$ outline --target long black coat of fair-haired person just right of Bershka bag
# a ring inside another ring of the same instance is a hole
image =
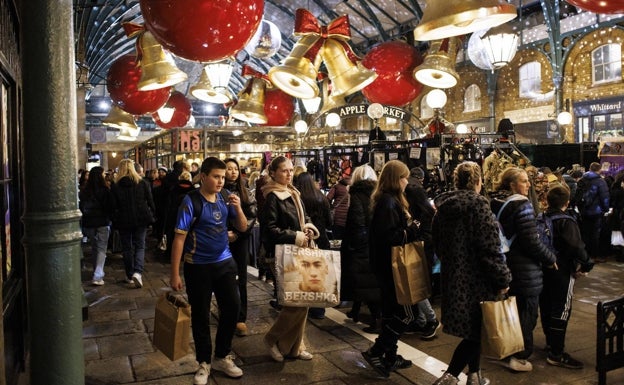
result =
[[[340,267],[344,300],[380,302],[377,278],[370,267],[368,229],[370,226],[370,196],[375,189],[372,180],[361,180],[349,188],[350,204],[345,232],[340,246]]]

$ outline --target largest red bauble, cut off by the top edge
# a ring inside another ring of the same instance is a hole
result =
[[[262,21],[261,0],[140,0],[145,27],[163,48],[188,60],[234,56]]]

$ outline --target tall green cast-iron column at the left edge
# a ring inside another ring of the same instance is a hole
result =
[[[84,384],[72,2],[22,1],[30,383]]]

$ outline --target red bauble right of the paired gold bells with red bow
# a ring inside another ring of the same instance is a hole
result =
[[[423,89],[412,75],[421,63],[420,52],[405,42],[390,41],[374,46],[362,64],[375,71],[377,78],[362,93],[371,103],[397,107],[410,103]]]

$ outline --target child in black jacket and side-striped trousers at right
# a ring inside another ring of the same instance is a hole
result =
[[[546,215],[565,212],[570,202],[570,191],[555,186],[548,191]],[[559,269],[544,269],[544,289],[540,294],[540,318],[546,336],[550,365],[582,369],[583,363],[564,351],[568,320],[572,312],[574,282],[594,266],[585,251],[579,226],[572,217],[558,218],[553,223],[553,246],[557,250]]]

